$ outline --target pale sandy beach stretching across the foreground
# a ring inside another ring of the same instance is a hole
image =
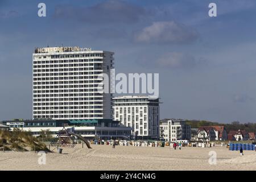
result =
[[[35,152],[0,152],[0,170],[256,170],[256,152],[229,151],[226,147],[135,147],[94,145],[92,149],[63,147],[63,154],[46,154],[39,164]],[[53,147],[52,147],[53,149]],[[217,164],[209,164],[209,152],[217,155]]]

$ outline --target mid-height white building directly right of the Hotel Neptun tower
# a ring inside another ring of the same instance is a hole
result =
[[[114,120],[133,127],[137,139],[159,138],[159,98],[122,96],[113,100]]]

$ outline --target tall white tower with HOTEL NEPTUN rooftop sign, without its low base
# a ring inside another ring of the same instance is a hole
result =
[[[35,48],[33,118],[112,119],[112,94],[98,88],[102,73],[110,76],[113,55],[79,47]]]

